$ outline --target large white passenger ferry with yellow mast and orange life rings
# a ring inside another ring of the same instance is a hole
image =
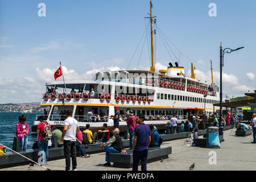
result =
[[[102,129],[103,123],[113,129],[114,106],[119,107],[123,121],[119,122],[119,130],[127,129],[125,111],[130,109],[135,115],[143,113],[147,125],[154,125],[158,130],[166,129],[167,121],[177,114],[178,121],[187,121],[188,114],[213,112],[220,100],[219,86],[207,84],[195,78],[193,65],[191,77],[185,74],[184,67],[175,62],[169,63],[167,69],[155,72],[154,44],[152,23],[152,3],[150,2],[151,24],[151,67],[150,71],[123,70],[98,72],[92,80],[54,81],[46,83],[47,87],[58,90],[72,89],[71,93],[45,93],[40,105],[49,106],[47,122],[63,129],[65,110],[72,110],[73,117],[79,122],[81,130],[86,124],[94,132]],[[93,92],[91,90],[93,89]],[[223,99],[225,102],[225,98]],[[94,115],[88,116],[92,110]],[[105,113],[105,114],[100,114]],[[98,116],[99,114],[100,116]],[[39,124],[36,116],[32,131]]]

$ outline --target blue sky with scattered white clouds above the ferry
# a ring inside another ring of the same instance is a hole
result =
[[[46,4],[46,17],[38,16],[41,2]],[[86,76],[95,69],[126,69],[145,30],[144,16],[150,11],[149,3],[144,0],[0,0],[0,89],[2,92],[13,90],[13,97],[0,96],[0,103],[39,101],[36,95],[44,92],[44,82],[47,76],[51,77],[50,71],[57,69],[60,60],[71,79],[74,74]],[[204,76],[200,74],[209,72],[212,59],[218,82],[222,41],[224,48],[245,47],[225,55],[224,92],[229,97],[243,96],[244,90],[256,88],[255,76],[246,75],[255,75],[255,1],[162,0],[152,3],[157,26],[187,56],[180,57],[180,64],[188,73],[193,62],[197,76]],[[208,15],[209,3],[216,3],[217,17]],[[179,52],[169,44],[179,57]],[[142,45],[130,69],[137,68]],[[158,28],[155,46],[155,61],[161,68],[170,60],[175,62],[175,56],[168,55]],[[146,40],[139,69],[149,67]],[[232,79],[234,81],[230,82]],[[237,84],[243,89],[237,88]],[[30,90],[34,96],[20,98],[31,93]]]

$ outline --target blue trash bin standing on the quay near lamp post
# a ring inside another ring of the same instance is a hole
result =
[[[218,127],[211,126],[207,128],[207,147],[220,148],[220,139],[218,138]]]

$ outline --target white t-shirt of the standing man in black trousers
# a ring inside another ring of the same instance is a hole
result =
[[[77,120],[72,117],[68,117],[64,121],[64,126],[65,125],[68,125],[68,130],[64,136],[64,140],[69,140],[69,141],[75,142],[76,141],[76,129],[79,126]]]

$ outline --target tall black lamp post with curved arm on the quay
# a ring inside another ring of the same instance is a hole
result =
[[[222,45],[220,46],[220,118],[218,120],[219,125],[221,124],[221,121],[222,121],[222,67],[224,66],[224,54],[238,51],[239,49],[242,49],[242,48],[244,47],[240,47],[237,49],[225,48],[222,51]]]

